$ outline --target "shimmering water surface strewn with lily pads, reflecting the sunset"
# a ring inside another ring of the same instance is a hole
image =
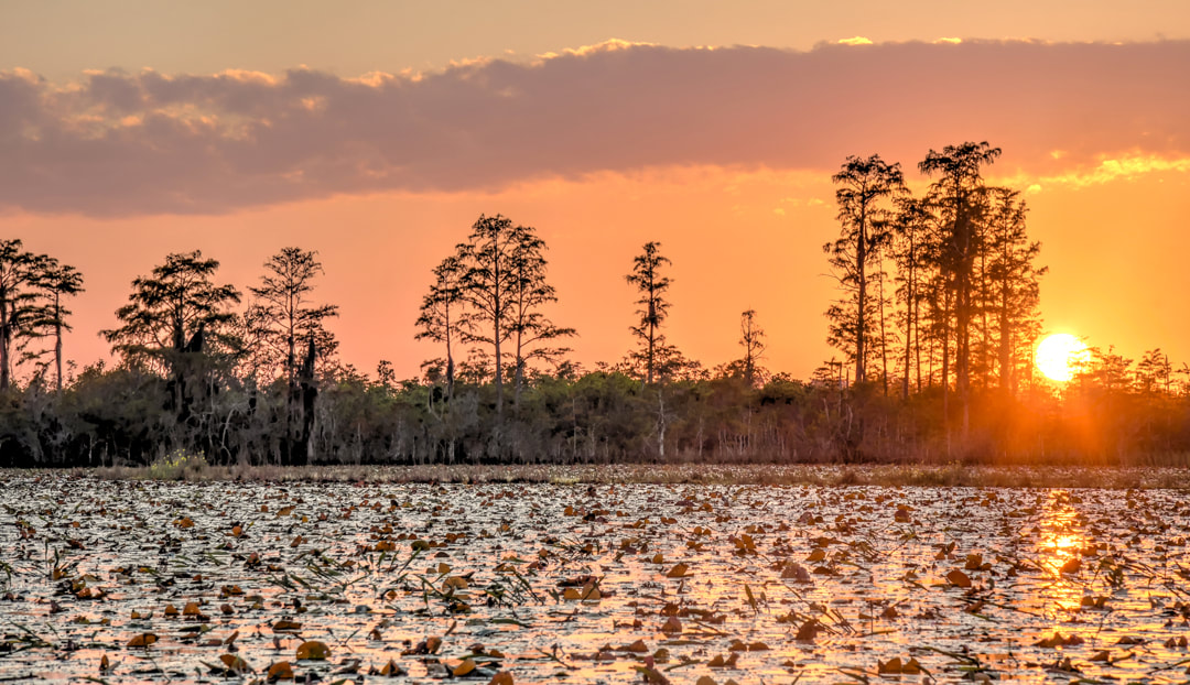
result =
[[[4,678],[1051,681],[1190,656],[1171,491],[7,483]]]

